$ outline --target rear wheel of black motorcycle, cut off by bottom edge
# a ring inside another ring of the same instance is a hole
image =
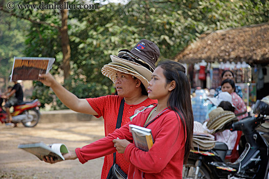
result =
[[[182,179],[195,179],[195,167],[196,160],[188,159],[187,164],[183,165]],[[197,179],[211,179],[208,170],[201,166]]]

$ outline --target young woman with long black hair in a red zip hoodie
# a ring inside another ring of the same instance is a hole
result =
[[[181,179],[193,134],[190,84],[185,68],[175,61],[161,63],[149,82],[148,96],[157,99],[158,104],[138,113],[109,136],[65,154],[65,159],[78,158],[85,163],[118,151],[131,163],[128,179]],[[155,142],[149,151],[135,147],[129,124],[147,125],[152,130]],[[48,157],[44,160],[57,162]]]

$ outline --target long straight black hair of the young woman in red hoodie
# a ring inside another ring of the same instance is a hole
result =
[[[166,82],[176,82],[176,87],[171,91],[167,106],[175,111],[186,130],[186,142],[184,153],[184,164],[186,164],[190,149],[192,149],[192,137],[193,137],[193,112],[191,106],[191,87],[188,78],[185,75],[185,67],[176,61],[164,61],[158,65],[163,69],[163,75],[166,78]],[[181,117],[183,116],[183,118]]]

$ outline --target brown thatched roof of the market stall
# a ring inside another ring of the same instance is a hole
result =
[[[269,63],[269,23],[202,34],[174,60],[196,63],[202,59],[207,62],[244,60],[250,64]]]

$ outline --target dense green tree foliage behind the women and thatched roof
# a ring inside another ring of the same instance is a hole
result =
[[[20,3],[40,4],[40,1],[20,0]],[[52,2],[44,0],[44,3]],[[69,3],[89,4],[89,1]],[[59,10],[14,12],[61,26]],[[68,13],[71,76],[64,86],[79,98],[92,98],[111,93],[112,81],[101,74],[101,68],[111,61],[110,55],[117,55],[120,49],[131,50],[140,39],[148,39],[160,48],[160,60],[173,59],[204,32],[268,22],[269,1],[130,0],[125,5],[98,4],[96,10],[72,9]],[[59,74],[63,64],[59,29],[32,23],[26,38],[24,55],[56,58],[51,73]],[[53,92],[34,82],[33,96],[41,99],[44,106],[52,102]],[[64,106],[56,99],[53,108]]]

